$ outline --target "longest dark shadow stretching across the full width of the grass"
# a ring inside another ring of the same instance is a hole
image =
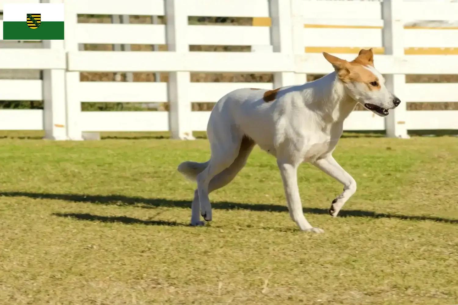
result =
[[[28,197],[36,199],[54,199],[65,200],[71,202],[96,203],[96,204],[111,204],[111,205],[136,205],[142,208],[154,209],[158,207],[166,208],[182,208],[191,209],[191,201],[187,200],[170,200],[166,198],[141,198],[127,197],[123,195],[81,195],[81,194],[48,194],[48,193],[25,193],[25,192],[4,192],[0,196],[5,197]],[[288,212],[286,205],[277,204],[248,204],[234,202],[215,202],[212,204],[213,209],[234,210],[244,209],[250,211],[266,211],[266,212]],[[304,213],[308,214],[328,214],[327,209],[304,208]],[[102,216],[100,216],[102,217]],[[395,215],[395,214],[378,214],[373,211],[364,210],[342,210],[338,217],[369,217],[369,218],[397,218],[407,220],[431,220],[439,222],[447,222],[458,224],[458,219],[447,219],[440,217],[429,216],[410,216],[410,215]],[[140,219],[136,219],[142,222]]]

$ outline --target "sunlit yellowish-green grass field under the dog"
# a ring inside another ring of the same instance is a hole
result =
[[[458,138],[345,137],[358,190],[300,167],[306,218],[287,212],[272,156],[255,149],[190,227],[181,161],[207,140],[2,139],[0,304],[458,304]]]

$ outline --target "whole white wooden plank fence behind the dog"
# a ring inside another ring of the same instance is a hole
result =
[[[458,74],[458,29],[404,28],[412,20],[456,20],[458,3],[42,0],[61,1],[65,41],[43,41],[43,48],[0,49],[0,69],[44,71],[43,80],[0,80],[0,100],[44,100],[44,111],[0,110],[2,130],[44,129],[47,138],[59,140],[80,140],[82,131],[170,130],[174,138],[192,139],[192,131],[206,130],[209,112],[192,112],[191,102],[216,102],[240,87],[303,83],[306,74],[332,71],[322,50],[342,53],[349,47],[384,52],[375,56],[376,68],[403,103],[387,118],[354,111],[345,130],[386,130],[391,137],[408,137],[407,130],[413,129],[458,129],[458,111],[406,110],[406,102],[458,102],[458,84],[405,83],[406,74]],[[0,0],[0,9],[6,2],[10,0]],[[78,23],[77,14],[166,16],[167,24]],[[188,25],[188,16],[270,17],[272,24]],[[167,44],[168,51],[81,51],[79,43]],[[189,52],[189,45],[251,45],[256,52]],[[428,49],[420,52],[422,48]],[[81,82],[82,71],[165,71],[169,82]],[[274,82],[196,83],[190,81],[190,72],[274,73]],[[81,111],[81,102],[167,101],[170,112]]]

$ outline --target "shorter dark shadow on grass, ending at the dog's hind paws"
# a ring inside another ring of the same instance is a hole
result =
[[[187,226],[186,224],[178,223],[178,222],[170,222],[170,221],[163,221],[163,220],[142,220],[127,216],[99,216],[93,214],[78,214],[78,213],[53,213],[54,216],[59,217],[69,217],[78,220],[89,220],[89,221],[101,221],[101,222],[120,222],[127,225],[133,224],[140,224],[140,225],[168,225],[168,226]]]

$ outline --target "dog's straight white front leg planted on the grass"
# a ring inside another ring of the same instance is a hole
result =
[[[301,231],[322,233],[323,230],[314,228],[305,219],[300,202],[299,187],[297,186],[297,165],[288,162],[277,161],[278,168],[283,180],[286,201],[288,203],[289,215],[299,226]]]

